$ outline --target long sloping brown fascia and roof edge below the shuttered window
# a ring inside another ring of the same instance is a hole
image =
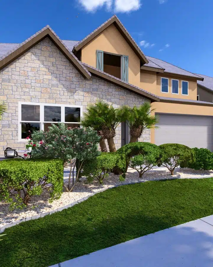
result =
[[[107,74],[104,71],[100,71],[98,69],[95,69],[92,66],[89,66],[89,65],[87,65],[85,63],[83,63],[83,64],[88,69],[88,71],[90,73],[92,73],[96,77],[99,77],[99,78],[101,78],[101,79],[103,79],[103,80],[105,80],[107,82],[111,82],[114,85],[117,85],[117,86],[119,86],[121,88],[124,88],[124,89],[126,89],[128,91],[131,91],[133,93],[136,93],[136,94],[138,94],[140,96],[146,97],[151,102],[160,101],[160,98],[158,96],[152,94],[152,93],[149,93],[149,92],[147,92],[147,91],[145,91],[145,90],[143,90],[143,89],[141,89],[139,87],[136,87],[134,85],[131,85],[129,83],[123,82],[122,80],[120,80],[120,79],[118,79],[118,78],[116,78],[116,77],[114,77],[114,76],[112,76],[110,74]]]

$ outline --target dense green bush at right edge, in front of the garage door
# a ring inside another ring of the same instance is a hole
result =
[[[195,170],[212,170],[213,169],[213,153],[207,148],[192,148],[195,160],[188,164],[188,168]]]

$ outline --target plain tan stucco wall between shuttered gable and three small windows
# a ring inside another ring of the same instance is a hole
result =
[[[150,93],[157,94],[157,76],[154,71],[141,70],[140,88]]]

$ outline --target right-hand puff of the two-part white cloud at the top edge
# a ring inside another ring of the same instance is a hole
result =
[[[115,0],[115,12],[130,12],[141,7],[140,0]]]

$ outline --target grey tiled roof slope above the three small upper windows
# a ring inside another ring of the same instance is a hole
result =
[[[158,58],[152,58],[149,56],[146,56],[146,58],[149,60],[148,64],[145,64],[144,66],[149,66],[150,62],[153,62],[154,64],[160,66],[161,68],[164,69],[164,73],[168,73],[168,74],[179,74],[185,77],[191,77],[191,78],[196,78],[196,80],[203,80],[202,77],[200,77],[197,74],[194,74],[190,71],[186,71],[185,69],[181,69],[175,65],[172,65],[166,61],[163,61],[161,59]]]

